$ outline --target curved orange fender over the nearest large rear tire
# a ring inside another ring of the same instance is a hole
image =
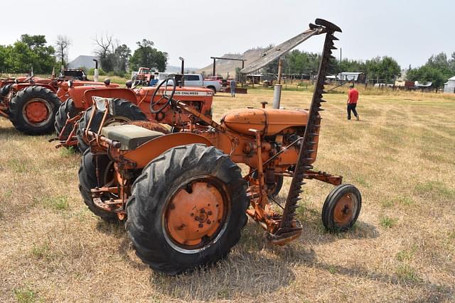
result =
[[[201,143],[207,146],[213,144],[207,138],[196,133],[171,133],[140,145],[138,148],[124,154],[124,158],[137,164],[135,168],[144,168],[151,160],[164,153],[166,150],[180,145]]]

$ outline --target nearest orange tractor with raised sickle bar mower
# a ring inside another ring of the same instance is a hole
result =
[[[321,127],[321,103],[338,26],[316,19],[305,35],[325,34],[318,79],[309,110],[265,108],[229,111],[220,123],[174,99],[162,82],[150,104],[189,114],[179,133],[124,124],[90,131],[97,113],[109,116],[112,100],[95,98],[84,136],[90,150],[79,170],[85,204],[106,221],[126,221],[137,255],[154,270],[177,274],[215,263],[240,239],[247,216],[267,232],[271,243],[299,238],[296,219],[304,180],[336,185],[322,209],[323,225],[346,231],[358,218],[357,188],[342,177],[313,170]],[[175,82],[175,81],[174,81]],[[164,103],[163,103],[164,101]],[[205,128],[196,127],[206,125]],[[203,122],[203,123],[200,123]],[[247,165],[244,173],[237,164]],[[279,203],[279,180],[291,177],[286,202]]]

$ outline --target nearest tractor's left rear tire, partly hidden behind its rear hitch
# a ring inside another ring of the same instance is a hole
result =
[[[98,165],[100,166],[101,176],[104,176],[106,170],[109,169],[109,167],[112,167],[109,165],[109,162],[110,160],[107,158],[107,155],[98,155]],[[95,155],[90,153],[90,150],[85,150],[85,153],[82,155],[82,161],[79,168],[79,182],[79,192],[82,196],[82,199],[84,199],[84,203],[88,206],[88,209],[90,209],[93,214],[99,216],[101,219],[109,223],[118,222],[119,219],[117,217],[117,214],[100,209],[93,202],[90,189],[95,187],[102,187],[105,184],[98,184]]]

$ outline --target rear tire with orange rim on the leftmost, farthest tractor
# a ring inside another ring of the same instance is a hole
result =
[[[50,89],[26,87],[11,99],[9,117],[18,131],[33,136],[44,135],[54,130],[58,106],[60,99]]]

